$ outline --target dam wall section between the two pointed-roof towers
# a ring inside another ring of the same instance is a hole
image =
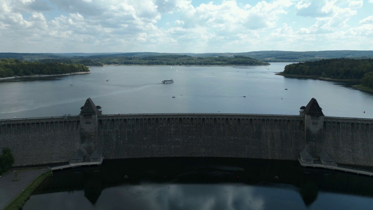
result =
[[[98,146],[111,158],[247,157],[292,160],[303,117],[275,115],[99,116]]]

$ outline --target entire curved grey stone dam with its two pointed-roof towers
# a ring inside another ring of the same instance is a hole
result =
[[[338,164],[373,167],[373,119],[325,117],[316,99],[299,115],[102,115],[88,98],[74,117],[0,121],[0,151],[13,166],[68,162],[77,149],[105,159],[240,157],[298,160],[325,149]]]

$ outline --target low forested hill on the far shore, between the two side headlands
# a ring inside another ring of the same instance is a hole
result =
[[[234,57],[192,57],[188,55],[163,55],[150,57],[90,57],[80,59],[42,59],[40,62],[64,62],[87,66],[102,65],[269,65],[247,56]]]

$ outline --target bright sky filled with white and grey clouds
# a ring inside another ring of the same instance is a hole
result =
[[[373,50],[373,0],[0,0],[0,52]]]

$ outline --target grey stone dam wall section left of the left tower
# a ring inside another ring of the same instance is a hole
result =
[[[0,149],[10,148],[13,166],[61,163],[81,148],[79,117],[0,121]]]

